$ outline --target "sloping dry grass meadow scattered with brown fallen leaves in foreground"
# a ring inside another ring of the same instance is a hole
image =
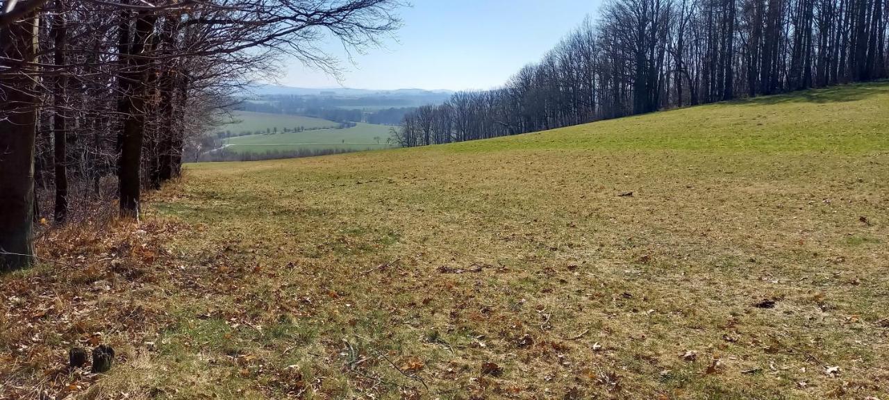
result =
[[[0,397],[889,398],[889,84],[191,164],[146,208],[0,277]]]

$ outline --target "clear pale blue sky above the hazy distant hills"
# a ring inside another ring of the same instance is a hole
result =
[[[342,86],[361,89],[489,89],[540,60],[599,0],[413,0],[383,48],[343,60]],[[342,56],[331,40],[324,49]],[[331,76],[288,63],[279,84],[337,87]]]

